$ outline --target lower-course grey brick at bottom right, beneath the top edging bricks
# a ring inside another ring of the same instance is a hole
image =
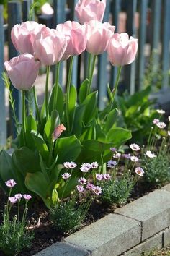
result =
[[[156,234],[145,242],[138,244],[133,249],[130,249],[128,252],[125,252],[121,256],[139,256],[142,255],[143,252],[151,252],[153,249],[161,249],[162,235],[162,232],[160,234]]]

